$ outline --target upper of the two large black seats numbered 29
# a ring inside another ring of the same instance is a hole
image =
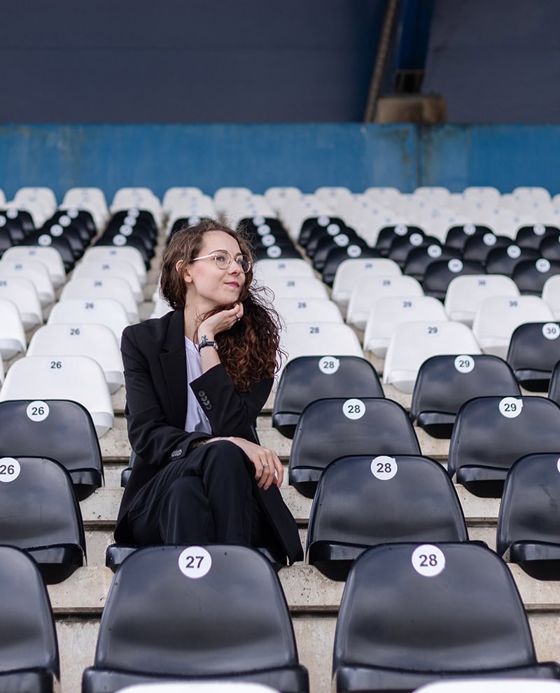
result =
[[[432,356],[416,377],[410,419],[433,437],[449,438],[461,405],[484,395],[521,395],[504,360],[491,354]]]

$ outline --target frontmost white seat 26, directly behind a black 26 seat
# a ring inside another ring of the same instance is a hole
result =
[[[0,389],[0,402],[6,400],[73,400],[90,412],[99,437],[113,428],[109,388],[101,366],[89,356],[20,358]]]

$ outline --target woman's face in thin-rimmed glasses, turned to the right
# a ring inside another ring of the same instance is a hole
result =
[[[220,269],[212,255],[232,258],[227,269]],[[207,231],[202,237],[202,246],[197,258],[187,265],[183,272],[186,283],[187,303],[196,304],[199,311],[209,311],[219,306],[235,303],[239,300],[245,283],[245,274],[235,261],[241,253],[239,244],[228,233]],[[204,257],[211,255],[211,257]]]

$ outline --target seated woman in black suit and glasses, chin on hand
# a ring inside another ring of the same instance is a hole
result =
[[[161,292],[173,311],[131,325],[121,342],[136,459],[118,542],[264,545],[302,559],[281,462],[255,442],[279,327],[252,281],[248,245],[227,226],[204,221],[172,236]]]

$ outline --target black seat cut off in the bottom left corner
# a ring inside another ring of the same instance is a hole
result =
[[[52,693],[59,689],[55,619],[35,561],[0,546],[0,690]]]

